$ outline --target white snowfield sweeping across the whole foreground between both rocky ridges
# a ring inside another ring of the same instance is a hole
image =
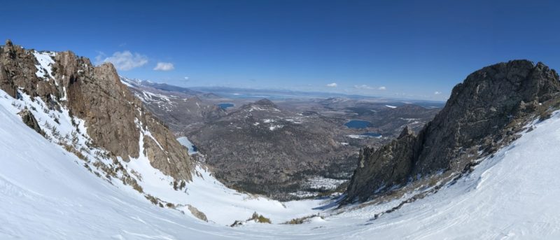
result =
[[[27,127],[16,114],[20,100],[8,98],[0,91],[0,239],[560,239],[558,112],[533,122],[533,131],[472,174],[375,220],[402,199],[348,211],[334,209],[334,199],[281,203],[225,188],[204,167],[186,190],[174,191],[144,157],[128,163],[146,192],[195,206],[207,223],[186,206],[160,208],[90,173],[83,160]],[[60,120],[69,121],[64,114]],[[226,226],[254,211],[273,224]],[[322,217],[279,224],[314,214]]]

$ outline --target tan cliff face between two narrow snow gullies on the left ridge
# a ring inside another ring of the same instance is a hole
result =
[[[139,157],[140,132],[134,120],[141,104],[127,94],[112,64],[94,67],[89,59],[78,58],[73,52],[60,52],[55,62],[55,76],[66,86],[67,105],[87,122],[87,133],[94,143],[124,160]]]

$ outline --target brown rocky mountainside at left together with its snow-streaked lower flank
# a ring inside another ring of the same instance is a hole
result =
[[[102,176],[122,170],[118,162],[147,155],[177,181],[191,178],[193,164],[181,144],[120,83],[112,64],[93,66],[73,52],[38,52],[10,41],[0,62],[0,89],[15,106],[28,108],[27,118],[41,125],[45,137],[97,164]]]

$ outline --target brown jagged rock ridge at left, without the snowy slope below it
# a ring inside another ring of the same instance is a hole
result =
[[[0,89],[15,98],[18,90],[40,97],[57,111],[67,108],[85,120],[94,146],[116,157],[137,158],[142,145],[153,167],[176,179],[191,179],[185,148],[120,82],[110,63],[93,66],[70,51],[37,52],[6,41],[0,48]],[[143,132],[151,137],[139,143]]]

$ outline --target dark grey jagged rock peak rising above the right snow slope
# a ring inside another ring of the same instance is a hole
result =
[[[365,201],[437,172],[461,172],[514,139],[529,120],[558,108],[556,71],[526,60],[486,66],[456,85],[419,132],[407,129],[377,150],[365,148],[346,202]]]

